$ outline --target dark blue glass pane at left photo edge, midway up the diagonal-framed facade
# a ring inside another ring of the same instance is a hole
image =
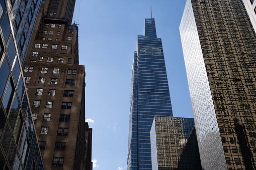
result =
[[[2,65],[0,67],[0,94],[2,95],[6,86],[6,82],[10,73],[9,64],[6,59],[6,56],[2,62]]]

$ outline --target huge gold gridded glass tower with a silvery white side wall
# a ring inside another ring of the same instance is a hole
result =
[[[204,169],[256,169],[256,35],[239,0],[188,0],[180,25]]]

